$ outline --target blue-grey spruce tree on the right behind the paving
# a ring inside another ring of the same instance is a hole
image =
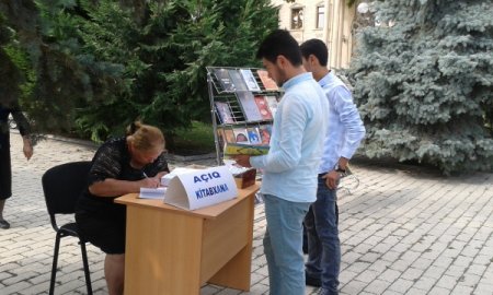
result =
[[[374,4],[382,25],[359,32],[351,66],[366,155],[431,163],[446,174],[491,168],[491,1]]]

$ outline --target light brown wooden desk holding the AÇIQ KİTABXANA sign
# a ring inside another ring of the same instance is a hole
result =
[[[125,294],[197,295],[207,282],[249,291],[257,190],[194,211],[137,193],[117,198],[127,205]]]

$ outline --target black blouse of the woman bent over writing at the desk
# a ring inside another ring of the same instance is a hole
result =
[[[130,166],[130,154],[126,139],[114,139],[101,145],[95,153],[89,173],[88,187],[106,178],[140,180],[145,178],[145,175],[152,177],[160,172],[169,172],[164,154],[161,154],[153,163],[146,165],[144,168],[136,169]],[[87,189],[79,199],[77,211],[102,213],[108,208],[121,206],[121,204],[113,202],[117,197],[121,196],[98,197]]]

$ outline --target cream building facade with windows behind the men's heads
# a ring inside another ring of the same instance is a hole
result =
[[[353,51],[353,20],[355,5],[345,0],[272,0],[279,7],[279,27],[288,30],[301,44],[311,38],[329,47],[329,66],[348,68]]]

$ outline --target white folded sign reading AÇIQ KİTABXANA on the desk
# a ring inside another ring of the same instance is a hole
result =
[[[237,185],[227,166],[176,175],[168,186],[164,203],[196,210],[234,199]]]

